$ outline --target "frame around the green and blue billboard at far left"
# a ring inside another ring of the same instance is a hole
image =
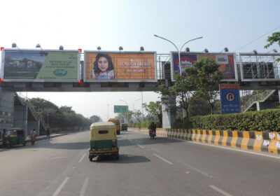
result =
[[[5,66],[5,53],[6,52],[20,52],[20,51],[25,51],[25,52],[76,52],[78,55],[77,59],[77,79],[6,79],[4,78],[4,66]],[[4,49],[1,51],[1,73],[0,76],[3,78],[5,82],[38,82],[38,83],[45,83],[45,82],[58,82],[58,83],[69,83],[69,82],[78,82],[80,79],[80,57],[81,57],[81,52],[79,50],[36,50],[36,49]]]

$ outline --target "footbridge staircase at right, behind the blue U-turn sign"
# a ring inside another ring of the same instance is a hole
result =
[[[244,113],[244,112],[250,110],[254,104],[257,105],[257,110],[259,110],[258,105],[260,104],[260,102],[265,102],[275,92],[276,92],[276,90],[265,90],[261,93],[258,93],[258,91],[257,91],[256,94],[255,93],[251,94],[251,96],[246,100],[246,102],[244,102],[244,104],[242,104],[241,112]]]

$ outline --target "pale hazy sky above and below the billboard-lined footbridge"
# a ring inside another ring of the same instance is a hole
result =
[[[174,46],[153,34],[173,41],[181,48],[186,41],[190,51],[268,52],[263,48],[272,31],[280,31],[279,0],[79,0],[79,1],[1,1],[0,46],[34,49],[125,51],[169,53]],[[253,43],[251,43],[253,41]],[[248,44],[250,43],[250,44]],[[244,45],[246,45],[244,47]],[[72,106],[85,117],[113,117],[113,105],[141,110],[141,92],[23,92],[57,104]],[[143,102],[155,102],[159,95],[144,92]],[[124,100],[120,101],[120,99]]]

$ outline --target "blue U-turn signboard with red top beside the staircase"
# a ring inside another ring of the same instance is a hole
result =
[[[240,99],[239,99],[239,85],[220,85],[221,95],[221,113],[239,113]]]

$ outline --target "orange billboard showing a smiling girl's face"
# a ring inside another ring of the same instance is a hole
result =
[[[85,51],[85,81],[156,81],[155,52]]]

